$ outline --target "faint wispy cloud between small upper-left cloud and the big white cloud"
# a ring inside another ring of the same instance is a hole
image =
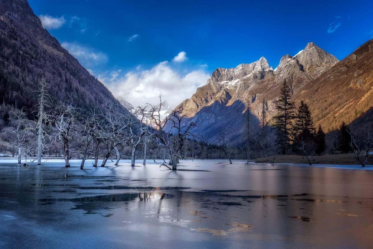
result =
[[[70,54],[75,56],[76,59],[84,67],[90,67],[108,61],[107,55],[101,51],[95,51],[94,48],[84,47],[82,45],[70,42],[63,42],[62,47],[66,48]]]

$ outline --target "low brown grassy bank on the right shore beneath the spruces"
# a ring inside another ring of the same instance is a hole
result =
[[[312,164],[360,165],[354,154],[321,155],[310,158]],[[266,158],[258,158],[258,163],[267,163]],[[278,155],[275,163],[308,164],[307,158],[301,155]],[[366,165],[373,165],[373,155],[368,157]]]

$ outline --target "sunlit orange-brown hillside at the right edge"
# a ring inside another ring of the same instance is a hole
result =
[[[294,97],[309,105],[316,126],[321,124],[326,132],[335,130],[343,121],[351,123],[373,106],[372,65],[370,40],[303,86]],[[372,120],[369,122],[372,127]]]

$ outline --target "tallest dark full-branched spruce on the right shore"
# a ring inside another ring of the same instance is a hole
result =
[[[273,125],[276,129],[276,144],[280,147],[284,154],[288,154],[288,149],[292,141],[293,135],[293,121],[295,118],[295,104],[291,100],[291,91],[289,86],[286,84],[286,80],[283,82],[280,90],[280,97],[275,100],[276,110],[278,114],[274,116],[275,124]]]

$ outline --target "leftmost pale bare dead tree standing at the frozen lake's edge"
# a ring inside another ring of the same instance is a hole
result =
[[[20,111],[14,112],[15,120],[13,121],[13,134],[16,136],[16,143],[18,144],[18,163],[21,163],[22,146],[26,139],[32,134],[32,125],[26,119],[23,113],[23,108]]]

